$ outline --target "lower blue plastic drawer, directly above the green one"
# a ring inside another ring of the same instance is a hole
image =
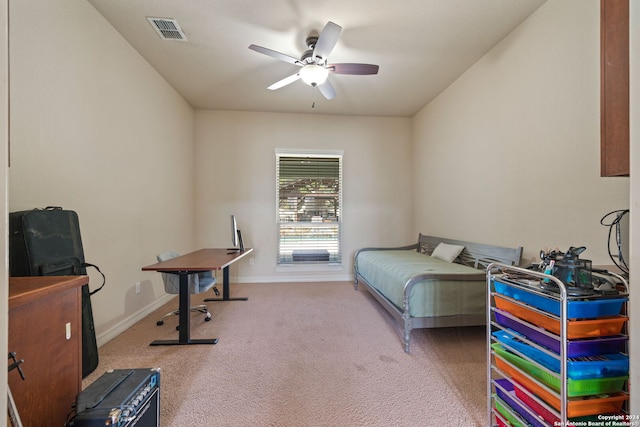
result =
[[[553,372],[560,372],[560,359],[520,340],[517,334],[500,330],[493,336],[505,346],[511,347],[540,363]],[[575,357],[567,360],[567,376],[574,380],[621,377],[629,374],[629,356],[625,354],[603,354]]]

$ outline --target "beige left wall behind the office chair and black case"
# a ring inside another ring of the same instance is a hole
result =
[[[78,212],[85,258],[107,276],[92,302],[108,336],[165,295],[140,268],[193,247],[194,113],[87,2],[10,13],[9,209]]]

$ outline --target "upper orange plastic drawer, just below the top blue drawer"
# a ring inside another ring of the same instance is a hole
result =
[[[508,299],[495,295],[496,306],[514,316],[533,323],[536,326],[560,334],[560,321],[537,311],[523,307]],[[567,321],[567,339],[604,337],[618,335],[622,331],[626,316],[601,317],[599,319],[569,320]]]

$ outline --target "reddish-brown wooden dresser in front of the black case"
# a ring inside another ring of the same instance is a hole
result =
[[[9,387],[25,426],[62,426],[82,389],[82,293],[88,276],[9,278]]]

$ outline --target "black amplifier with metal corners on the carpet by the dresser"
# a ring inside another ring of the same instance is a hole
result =
[[[116,369],[105,372],[80,392],[74,427],[159,427],[160,369]]]

